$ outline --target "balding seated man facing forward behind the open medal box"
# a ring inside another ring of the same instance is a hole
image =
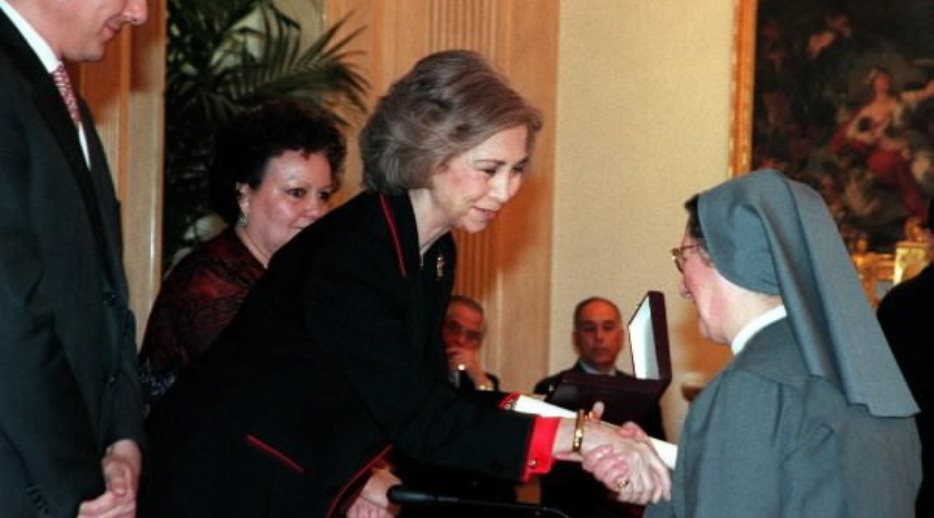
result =
[[[574,331],[571,341],[578,359],[570,369],[542,379],[535,384],[536,394],[554,392],[561,376],[567,372],[582,372],[603,376],[629,376],[616,368],[616,358],[626,343],[622,315],[613,301],[589,297],[574,307]],[[638,421],[647,434],[665,438],[661,408],[655,405],[646,417]],[[607,498],[606,489],[580,466],[559,462],[542,478],[542,502],[560,507],[580,518],[616,518],[642,516],[642,507],[621,505]]]

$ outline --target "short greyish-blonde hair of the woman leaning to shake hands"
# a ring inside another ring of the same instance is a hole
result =
[[[424,187],[453,157],[522,125],[531,151],[538,110],[480,54],[431,54],[390,87],[360,133],[363,183],[385,193]]]

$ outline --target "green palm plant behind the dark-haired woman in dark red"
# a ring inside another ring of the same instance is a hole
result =
[[[309,0],[317,2],[319,0]],[[165,92],[163,265],[206,237],[213,135],[262,101],[287,96],[343,124],[366,111],[368,83],[338,38],[346,18],[301,43],[274,0],[169,0]]]

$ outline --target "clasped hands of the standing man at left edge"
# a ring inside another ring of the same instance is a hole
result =
[[[134,441],[123,439],[107,448],[101,460],[104,494],[85,500],[78,508],[78,518],[133,518],[143,455]]]

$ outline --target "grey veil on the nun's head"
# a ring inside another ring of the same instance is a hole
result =
[[[820,195],[756,171],[701,193],[697,208],[720,274],[782,296],[812,375],[873,415],[918,412]]]

